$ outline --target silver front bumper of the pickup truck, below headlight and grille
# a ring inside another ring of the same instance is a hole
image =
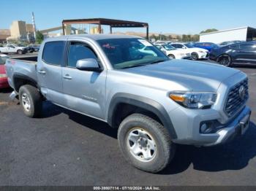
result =
[[[187,111],[185,111],[187,110]],[[173,140],[177,144],[192,144],[195,146],[214,146],[217,144],[224,144],[227,141],[232,140],[236,136],[241,136],[241,132],[245,133],[248,128],[241,125],[241,121],[244,118],[251,114],[251,110],[248,106],[245,106],[244,109],[230,122],[222,125],[222,128],[217,130],[216,133],[200,133],[200,122],[207,120],[217,120],[219,114],[214,109],[207,110],[197,110],[197,112],[192,112],[189,109],[176,109],[172,112],[170,116],[175,117],[178,115],[179,124],[177,120],[173,121],[173,126],[178,127],[176,129],[178,139]],[[182,119],[182,117],[187,116],[187,118]],[[181,121],[182,119],[182,121]],[[249,119],[248,121],[249,122]],[[184,125],[183,127],[181,125]],[[243,129],[242,129],[243,128]]]

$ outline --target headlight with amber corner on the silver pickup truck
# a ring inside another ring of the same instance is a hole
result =
[[[216,101],[217,93],[171,92],[169,97],[189,109],[206,109]]]

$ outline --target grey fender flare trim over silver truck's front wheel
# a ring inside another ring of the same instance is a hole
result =
[[[170,133],[171,139],[177,138],[176,130],[173,127],[173,123],[171,122],[165,108],[161,104],[159,104],[157,101],[151,100],[150,98],[145,98],[140,95],[132,95],[129,93],[117,93],[110,101],[107,119],[107,122],[110,126],[113,125],[113,114],[116,112],[118,104],[130,104],[153,112],[157,115],[157,117],[159,117],[159,120],[161,120],[164,127],[167,128],[168,132]]]

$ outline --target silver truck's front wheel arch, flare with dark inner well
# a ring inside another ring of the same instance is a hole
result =
[[[159,104],[157,101],[151,100],[150,98],[145,98],[140,95],[132,95],[129,93],[117,93],[110,101],[107,122],[111,127],[118,128],[118,125],[120,124],[118,118],[121,115],[121,112],[123,112],[122,110],[124,109],[122,106],[134,107],[133,109],[138,109],[135,110],[135,112],[138,113],[148,112],[149,115],[153,114],[153,116],[149,117],[157,117],[162,125],[167,128],[168,132],[170,133],[170,137],[172,139],[177,138],[176,130],[173,127],[173,123],[171,122],[165,108],[161,104]],[[120,111],[119,109],[122,110]],[[129,115],[129,112],[127,112],[127,115]],[[121,117],[120,120],[124,118]]]

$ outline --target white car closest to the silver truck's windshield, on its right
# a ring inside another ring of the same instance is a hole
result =
[[[170,44],[157,44],[156,47],[159,48],[159,50],[162,50],[162,52],[165,53],[169,58],[171,59],[189,59],[190,53],[187,52],[187,50],[178,50],[175,47],[173,47]]]

